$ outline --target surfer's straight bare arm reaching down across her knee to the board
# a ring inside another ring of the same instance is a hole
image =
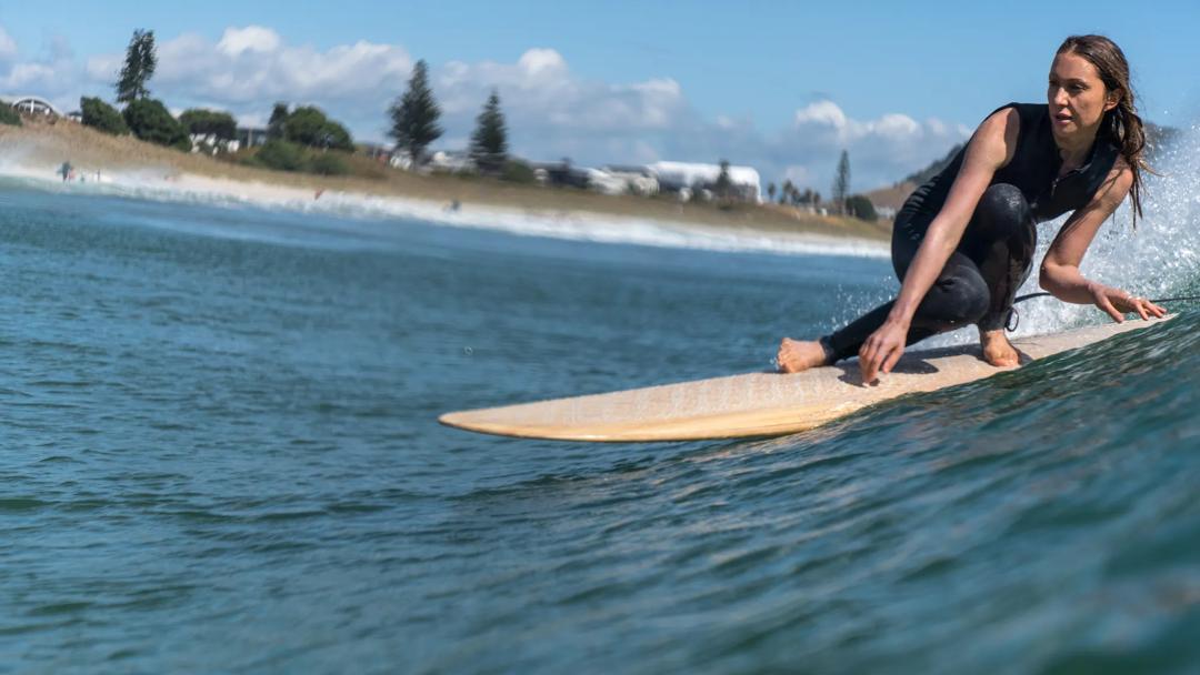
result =
[[[958,248],[979,198],[988,189],[996,170],[1012,161],[1020,125],[1016,109],[1006,108],[984,120],[971,137],[959,175],[905,273],[900,295],[888,320],[866,338],[858,351],[864,382],[875,380],[880,370],[890,372],[900,360],[917,307]]]

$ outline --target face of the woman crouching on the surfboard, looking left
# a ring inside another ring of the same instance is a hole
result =
[[[1055,137],[1069,138],[1094,133],[1104,113],[1116,107],[1117,96],[1105,90],[1096,66],[1068,52],[1055,56],[1050,65],[1046,102]]]

